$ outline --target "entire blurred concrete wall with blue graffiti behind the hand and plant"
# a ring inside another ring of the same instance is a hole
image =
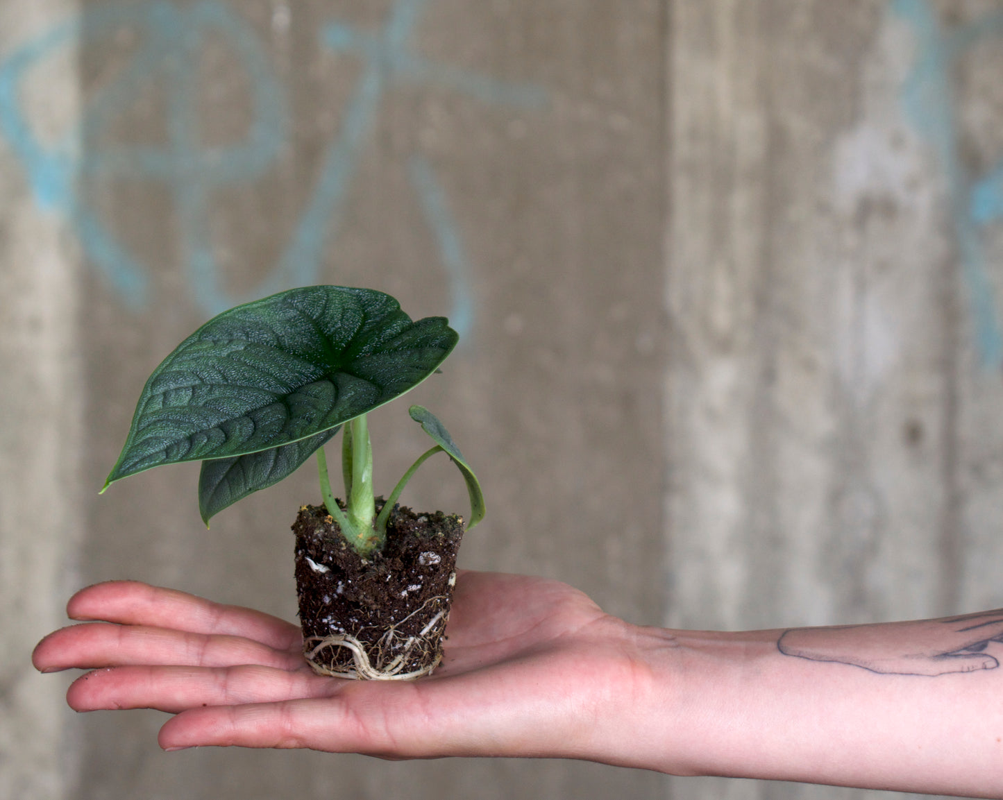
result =
[[[0,0],[0,796],[878,797],[169,756],[27,654],[110,577],[294,618],[312,469],[211,531],[197,467],[95,492],[183,336],[321,282],[460,331],[416,399],[488,495],[466,566],[677,626],[1003,606],[1001,68],[992,2]],[[378,480],[421,443],[374,426]]]

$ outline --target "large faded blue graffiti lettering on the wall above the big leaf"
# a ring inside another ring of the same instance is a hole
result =
[[[147,0],[84,10],[0,63],[0,132],[25,165],[36,202],[70,221],[89,260],[123,300],[136,308],[150,301],[147,272],[94,214],[87,189],[110,179],[169,186],[195,297],[208,313],[216,314],[253,297],[318,282],[324,254],[337,237],[362,150],[391,84],[444,88],[512,107],[538,108],[547,103],[547,93],[540,87],[494,80],[416,55],[410,39],[426,4],[427,0],[395,0],[385,24],[375,32],[341,23],[324,26],[322,43],[336,53],[360,58],[363,69],[290,241],[272,273],[246,297],[234,297],[221,280],[210,232],[212,201],[221,187],[254,180],[274,163],[287,140],[288,113],[283,86],[257,34],[226,4]],[[26,75],[72,43],[100,43],[122,25],[136,30],[141,40],[128,67],[88,99],[73,129],[54,144],[42,144],[20,102]],[[202,144],[196,102],[199,54],[207,36],[214,35],[238,54],[253,92],[246,140],[226,147]],[[107,145],[109,127],[154,81],[168,89],[168,143]],[[470,270],[445,192],[420,154],[410,157],[408,176],[449,278],[450,318],[457,331],[466,334],[473,318],[466,283]]]

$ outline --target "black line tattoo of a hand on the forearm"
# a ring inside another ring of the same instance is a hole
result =
[[[1003,658],[1003,610],[914,623],[792,628],[776,647],[784,656],[882,675],[995,670]]]

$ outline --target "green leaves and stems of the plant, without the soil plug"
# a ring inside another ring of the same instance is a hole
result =
[[[328,512],[345,540],[371,555],[385,544],[404,484],[442,451],[466,481],[469,529],[484,514],[477,479],[442,424],[421,406],[412,406],[410,415],[435,445],[376,513],[366,418],[435,372],[456,341],[444,318],[413,322],[396,300],[369,289],[306,287],[226,311],[150,375],[101,491],[154,466],[201,460],[199,508],[208,524],[316,453]],[[344,510],[334,500],[323,449],[343,425]]]

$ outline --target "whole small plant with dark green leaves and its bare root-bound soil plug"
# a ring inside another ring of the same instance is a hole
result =
[[[433,446],[385,499],[375,496],[366,415],[437,372],[457,338],[444,318],[413,322],[396,300],[368,289],[293,289],[226,311],[153,370],[101,491],[154,466],[200,460],[208,525],[316,454],[323,504],[302,506],[293,525],[304,656],[321,675],[430,674],[442,657],[463,520],[415,513],[398,499],[438,452],[466,481],[467,529],[484,515],[483,496],[449,433],[421,406],[409,413]],[[339,430],[343,500],[324,453]]]

